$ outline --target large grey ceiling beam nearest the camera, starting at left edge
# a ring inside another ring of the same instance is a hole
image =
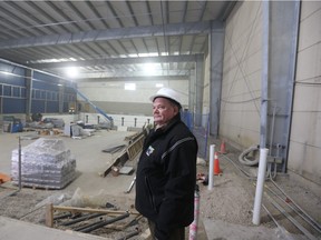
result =
[[[181,34],[210,33],[211,21],[166,24],[165,27],[133,27],[107,30],[93,30],[66,34],[51,34],[33,38],[20,38],[16,40],[0,41],[0,50],[14,48],[30,48],[39,46],[57,46],[82,42],[98,42],[119,39],[150,38]]]

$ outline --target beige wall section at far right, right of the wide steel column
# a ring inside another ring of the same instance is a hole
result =
[[[321,2],[302,1],[288,169],[321,184]]]

